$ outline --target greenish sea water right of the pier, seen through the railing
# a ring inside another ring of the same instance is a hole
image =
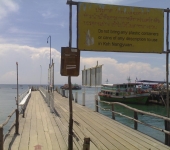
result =
[[[82,104],[82,93],[85,92],[85,105],[86,107],[95,110],[95,94],[97,94],[100,91],[100,88],[83,88],[82,90],[77,90],[74,91],[73,90],[73,97],[75,95],[75,92],[78,93],[78,103]],[[98,99],[100,99],[98,97]],[[146,112],[151,112],[154,114],[158,114],[161,116],[166,116],[166,108],[164,106],[160,106],[160,105],[156,105],[156,104],[147,104],[147,105],[137,105],[137,104],[127,104],[130,107],[142,110],[142,111],[146,111]],[[108,105],[106,103],[101,103],[99,102],[99,106],[104,108],[105,110],[108,109],[112,109],[111,105]],[[112,118],[112,113],[111,111],[105,111],[102,109],[99,109],[99,113]],[[114,111],[119,112],[121,114],[127,115],[127,116],[134,116],[134,112],[123,107],[123,106],[118,106],[115,105],[114,106]],[[133,120],[129,120],[125,117],[121,117],[120,115],[115,115],[115,120],[130,127],[130,128],[134,128],[134,121]],[[140,120],[141,122],[147,123],[149,125],[152,126],[156,126],[158,128],[164,129],[164,120],[163,119],[159,119],[159,118],[155,118],[152,116],[148,116],[148,115],[143,115],[143,114],[138,114],[138,120]],[[165,135],[163,132],[152,129],[150,127],[147,127],[145,125],[139,124],[138,123],[138,131],[147,134],[151,137],[153,137],[154,139],[161,141],[162,143],[164,143],[165,141]]]

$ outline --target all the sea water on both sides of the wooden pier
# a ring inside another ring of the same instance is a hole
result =
[[[23,93],[25,92],[28,87],[30,85],[22,85],[19,86],[19,93]],[[73,90],[73,96],[75,96],[75,92],[78,92],[78,103],[82,104],[82,92],[84,91],[84,89],[82,90],[77,90],[74,91]],[[86,102],[85,105],[86,107],[90,108],[90,109],[95,109],[95,105],[94,105],[94,98],[95,98],[95,93],[99,92],[100,88],[86,88],[85,92],[86,92]],[[0,85],[0,124],[3,123],[7,116],[12,112],[12,110],[16,109],[16,102],[15,102],[15,97],[17,95],[17,90],[16,90],[16,85]],[[109,105],[104,104],[104,103],[99,103],[99,105],[103,108],[110,108]],[[158,106],[158,105],[134,105],[131,104],[129,105],[131,107],[140,109],[140,110],[144,110],[147,112],[152,112],[152,113],[156,113],[159,115],[166,115],[166,109],[163,106]],[[133,112],[121,107],[121,106],[115,106],[115,111],[121,112],[122,114],[126,114],[128,116],[133,116]],[[109,111],[103,111],[99,109],[99,112],[110,117],[111,118],[111,112]],[[146,115],[139,115],[138,116],[139,120],[146,122],[148,124],[160,127],[162,129],[164,129],[164,121],[162,119],[157,119],[154,117],[150,117],[150,116],[146,116]],[[116,115],[116,120],[133,128],[134,123],[133,121],[126,119],[124,117],[120,117],[118,115]],[[4,132],[7,132],[7,129],[11,126],[11,124],[13,123],[14,118],[12,118],[9,122],[9,124],[7,124],[4,128]],[[152,128],[149,127],[145,127],[143,125],[138,124],[138,130],[148,134],[150,136],[152,136],[153,138],[164,142],[164,133],[154,130]]]

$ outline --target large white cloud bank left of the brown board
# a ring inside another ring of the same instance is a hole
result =
[[[40,65],[43,70],[42,81],[46,83],[50,63],[49,54],[49,47],[35,48],[16,44],[0,44],[0,83],[16,83],[16,77],[11,73],[16,72],[16,62],[19,66],[20,83],[39,83]],[[58,66],[60,53],[52,48],[51,56]]]

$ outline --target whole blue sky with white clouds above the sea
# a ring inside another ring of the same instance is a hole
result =
[[[112,5],[166,9],[169,0],[80,0]],[[76,46],[76,6],[73,6],[72,46]],[[164,13],[166,16],[166,13]],[[166,34],[166,26],[164,29]],[[69,6],[66,0],[0,0],[0,84],[47,84],[51,58],[55,63],[55,84],[66,84],[60,74],[61,47],[69,46]],[[164,35],[164,43],[166,37]],[[166,50],[166,45],[164,45]],[[135,79],[166,79],[166,55],[151,53],[90,52],[80,53],[80,73],[72,83],[81,84],[81,71],[103,64],[102,83],[125,83]]]

